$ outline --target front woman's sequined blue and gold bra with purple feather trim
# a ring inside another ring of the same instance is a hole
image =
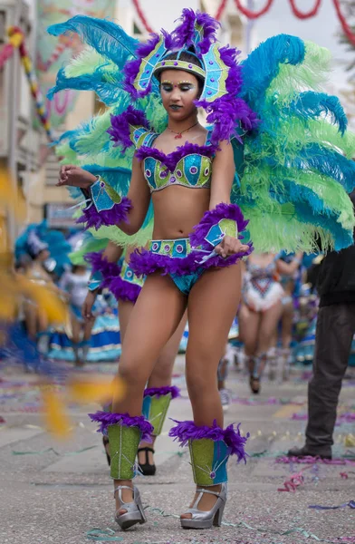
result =
[[[158,138],[157,132],[137,127],[131,139],[136,146],[136,157],[143,162],[144,177],[150,192],[165,189],[170,185],[181,185],[190,189],[211,187],[212,160],[216,146],[211,145],[211,131],[207,131],[203,146],[186,142],[167,155],[152,147]]]

